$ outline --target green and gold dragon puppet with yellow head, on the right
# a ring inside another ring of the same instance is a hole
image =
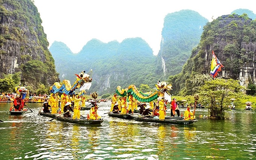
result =
[[[120,86],[117,86],[116,93],[119,94],[119,96],[128,96],[131,94],[135,99],[137,99],[140,102],[151,102],[155,99],[162,99],[165,98],[170,99],[171,96],[167,93],[167,91],[172,90],[172,85],[168,84],[166,82],[160,82],[158,81],[158,84],[155,85],[156,91],[155,92],[148,92],[148,93],[142,93],[141,91],[138,91],[135,85],[130,85],[128,88],[122,89]]]

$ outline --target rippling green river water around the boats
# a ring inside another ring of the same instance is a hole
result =
[[[231,119],[178,126],[108,117],[110,102],[102,102],[104,122],[84,126],[48,122],[50,117],[37,115],[41,104],[27,105],[33,112],[9,116],[11,103],[0,103],[0,160],[256,159],[256,110],[237,108],[229,111]],[[199,114],[207,115],[207,109],[198,109]]]

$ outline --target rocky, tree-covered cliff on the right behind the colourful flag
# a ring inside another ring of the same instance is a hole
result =
[[[197,73],[210,74],[212,50],[224,68],[221,78],[237,79],[247,87],[256,83],[256,21],[247,15],[222,15],[204,26],[200,44],[183,67],[182,73],[171,78],[185,94],[192,93],[192,82]],[[176,90],[176,91],[178,91]]]

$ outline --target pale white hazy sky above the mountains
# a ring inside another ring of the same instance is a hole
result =
[[[78,53],[91,39],[104,43],[141,37],[158,54],[168,13],[191,9],[212,21],[235,9],[256,14],[254,0],[34,0],[50,46],[65,43]]]

